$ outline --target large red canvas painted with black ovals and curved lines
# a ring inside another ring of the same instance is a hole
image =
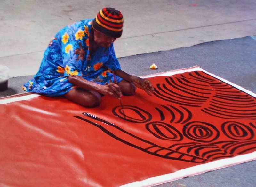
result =
[[[123,107],[1,99],[0,185],[150,186],[255,159],[255,94],[201,68],[149,79]]]

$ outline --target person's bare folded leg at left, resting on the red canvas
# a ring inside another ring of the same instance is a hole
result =
[[[97,91],[73,88],[64,95],[68,100],[85,107],[96,107],[100,105],[101,95]]]

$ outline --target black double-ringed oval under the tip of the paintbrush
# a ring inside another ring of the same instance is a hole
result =
[[[136,114],[138,118],[135,118],[134,115],[129,116],[128,112],[125,112],[125,116],[124,116],[123,109],[133,111],[134,112],[133,114]],[[129,122],[133,122],[133,123],[146,123],[152,119],[152,115],[149,112],[137,106],[131,106],[131,105],[123,105],[123,107],[116,106],[112,109],[112,113],[118,118],[124,119]]]

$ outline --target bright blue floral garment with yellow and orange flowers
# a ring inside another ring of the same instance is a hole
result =
[[[68,76],[83,76],[88,81],[98,84],[117,83],[122,78],[112,74],[119,70],[113,43],[110,47],[99,47],[90,56],[89,36],[92,20],[86,19],[61,29],[44,52],[40,68],[34,79],[23,85],[23,90],[47,96],[60,96],[72,88]]]

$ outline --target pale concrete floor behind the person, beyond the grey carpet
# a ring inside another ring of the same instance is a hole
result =
[[[0,2],[0,65],[10,68],[11,77],[36,74],[55,33],[94,18],[104,6],[124,15],[117,57],[256,33],[254,0],[5,0]]]

